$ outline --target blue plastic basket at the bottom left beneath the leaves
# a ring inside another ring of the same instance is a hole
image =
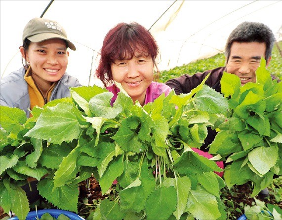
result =
[[[71,220],[85,220],[75,213],[61,210],[61,209],[42,209],[38,211],[32,211],[32,212],[29,212],[26,220],[36,220],[37,217],[40,219],[44,213],[49,213],[53,218],[56,218],[56,219],[58,218],[60,214],[64,214]],[[19,219],[18,217],[15,216],[15,217],[10,218],[9,220],[19,220]]]

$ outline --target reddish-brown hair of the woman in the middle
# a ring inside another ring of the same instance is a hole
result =
[[[150,56],[156,66],[159,48],[151,33],[138,23],[120,23],[105,36],[96,76],[104,83],[113,83],[111,64],[116,60],[130,60],[134,53]]]

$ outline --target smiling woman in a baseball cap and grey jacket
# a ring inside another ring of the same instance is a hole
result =
[[[31,117],[34,106],[69,97],[69,87],[81,86],[66,73],[69,52],[76,50],[66,31],[55,21],[34,18],[23,31],[23,67],[1,80],[0,105],[17,107]]]

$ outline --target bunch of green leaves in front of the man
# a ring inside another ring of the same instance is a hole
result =
[[[229,97],[231,111],[209,152],[228,157],[224,179],[229,188],[251,181],[255,196],[274,174],[282,174],[282,83],[272,80],[262,59],[256,83],[241,86],[238,76],[224,73],[221,92]]]

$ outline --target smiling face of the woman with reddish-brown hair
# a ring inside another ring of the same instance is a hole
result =
[[[121,83],[132,98],[144,105],[147,88],[154,78],[154,63],[151,57],[135,54],[131,60],[116,60],[111,65],[113,80]]]

